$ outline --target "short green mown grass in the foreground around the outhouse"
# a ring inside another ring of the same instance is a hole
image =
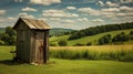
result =
[[[49,64],[11,63],[14,46],[0,46],[0,74],[133,74],[133,62],[59,60]]]

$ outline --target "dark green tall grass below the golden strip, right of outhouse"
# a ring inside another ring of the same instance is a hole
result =
[[[111,52],[99,51],[72,51],[72,50],[51,50],[51,57],[69,60],[113,60],[133,62],[133,50],[119,50]]]

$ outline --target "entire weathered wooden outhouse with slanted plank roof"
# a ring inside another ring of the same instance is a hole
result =
[[[19,18],[13,29],[17,31],[16,57],[28,63],[47,63],[50,27],[42,20]]]

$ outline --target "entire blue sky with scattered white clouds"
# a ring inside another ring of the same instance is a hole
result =
[[[13,27],[20,17],[81,30],[132,22],[133,0],[0,0],[0,28]]]

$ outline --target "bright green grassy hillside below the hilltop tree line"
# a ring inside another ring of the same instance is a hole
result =
[[[121,32],[124,32],[125,34],[129,34],[130,31],[133,31],[133,29],[100,33],[100,34],[96,34],[96,35],[84,36],[84,38],[76,39],[76,40],[70,40],[70,41],[68,41],[68,44],[69,45],[74,45],[76,43],[86,44],[89,42],[91,42],[92,44],[98,44],[98,40],[105,34],[111,34],[111,36],[113,38],[114,35],[116,35]],[[52,38],[50,38],[50,42],[59,42],[60,40],[68,40],[69,36],[70,35],[52,36]],[[127,41],[127,42],[124,42],[124,43],[133,43],[133,41]]]

